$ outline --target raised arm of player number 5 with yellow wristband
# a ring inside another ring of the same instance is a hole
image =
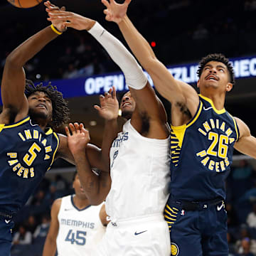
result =
[[[55,25],[58,24],[60,23],[57,22]],[[61,30],[63,25],[60,24],[60,26],[57,27]],[[11,117],[14,118],[13,122],[17,122],[28,114],[28,101],[24,95],[26,77],[23,65],[60,34],[55,33],[55,31],[50,26],[44,28],[34,36],[31,36],[31,38],[28,38],[6,58],[1,81],[3,114],[1,114],[0,122],[5,113],[9,115],[9,120],[8,118],[5,119],[5,122],[9,122]]]

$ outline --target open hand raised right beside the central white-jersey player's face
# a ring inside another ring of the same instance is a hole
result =
[[[94,107],[104,119],[116,119],[118,117],[119,103],[115,87],[105,92],[104,96],[100,95],[100,106],[95,105]]]

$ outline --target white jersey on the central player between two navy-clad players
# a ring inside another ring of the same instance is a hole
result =
[[[169,196],[170,138],[149,139],[130,120],[110,149],[112,184],[106,199],[111,220],[162,214]]]

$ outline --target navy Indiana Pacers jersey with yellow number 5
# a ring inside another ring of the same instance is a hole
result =
[[[59,138],[26,117],[0,124],[0,211],[16,213],[53,164]]]

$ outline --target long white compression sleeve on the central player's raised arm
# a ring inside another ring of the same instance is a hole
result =
[[[146,86],[147,78],[142,67],[117,38],[97,22],[88,32],[107,50],[114,63],[119,65],[129,87],[140,90]]]

